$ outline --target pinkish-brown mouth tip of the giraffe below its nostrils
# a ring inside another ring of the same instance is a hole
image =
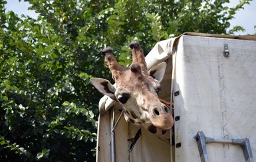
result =
[[[162,116],[154,116],[150,118],[153,126],[160,128],[161,130],[169,130],[174,126],[174,119],[170,114],[165,114]]]

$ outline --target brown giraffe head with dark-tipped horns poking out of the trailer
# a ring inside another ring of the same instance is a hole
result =
[[[112,48],[102,50],[115,85],[102,78],[92,78],[90,83],[100,93],[122,105],[126,122],[143,127],[170,143],[170,128],[174,125],[174,119],[170,106],[158,98],[166,64],[160,63],[148,71],[139,42],[132,42],[129,46],[132,50],[130,67],[123,67],[116,61]]]

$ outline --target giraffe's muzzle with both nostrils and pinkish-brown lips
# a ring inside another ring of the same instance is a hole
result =
[[[168,106],[152,106],[150,110],[150,121],[156,128],[168,130],[174,125],[174,118]]]

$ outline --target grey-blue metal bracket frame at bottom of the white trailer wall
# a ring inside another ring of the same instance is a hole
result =
[[[251,151],[251,146],[248,138],[243,138],[243,139],[207,138],[205,137],[202,131],[197,132],[194,138],[197,142],[197,147],[198,147],[198,151],[199,151],[202,162],[209,162],[208,156],[207,156],[207,150],[206,150],[206,143],[222,143],[222,144],[240,145],[243,149],[243,155],[245,155],[246,162],[254,162],[253,153]]]

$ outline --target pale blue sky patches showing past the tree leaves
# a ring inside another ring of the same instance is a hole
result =
[[[239,0],[230,0],[231,2],[227,4],[229,7],[235,7],[239,3]],[[29,15],[30,17],[37,18],[37,14],[34,11],[29,11],[29,3],[19,2],[19,0],[7,0],[7,5],[5,5],[7,11],[13,11],[17,15],[21,14]],[[235,35],[247,35],[254,34],[254,26],[256,25],[256,0],[250,2],[250,5],[244,5],[244,9],[237,11],[235,14],[235,19],[231,20],[232,26],[243,26],[245,32],[235,32]]]

